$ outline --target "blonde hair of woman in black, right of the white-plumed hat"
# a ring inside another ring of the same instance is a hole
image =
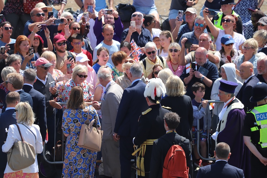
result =
[[[166,82],[168,96],[183,96],[186,93],[183,81],[177,75],[170,76]]]

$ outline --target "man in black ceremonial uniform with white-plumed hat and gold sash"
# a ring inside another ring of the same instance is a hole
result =
[[[167,109],[161,107],[161,96],[165,96],[166,88],[160,78],[152,78],[144,90],[144,97],[149,108],[142,112],[138,121],[138,132],[133,139],[134,145],[139,148],[133,153],[137,153],[138,176],[149,177],[150,160],[153,142],[165,135],[164,115]]]

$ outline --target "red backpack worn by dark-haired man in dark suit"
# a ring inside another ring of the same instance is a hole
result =
[[[172,146],[164,159],[162,178],[188,178],[189,167],[186,165],[185,153],[181,147],[184,140],[185,137],[181,137],[178,144],[171,143]]]

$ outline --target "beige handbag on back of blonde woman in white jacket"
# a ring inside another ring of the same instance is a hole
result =
[[[18,124],[16,124],[16,126],[19,129]],[[20,129],[19,129],[19,135],[21,137],[21,141],[14,143],[13,147],[10,148],[7,153],[8,154],[8,166],[14,171],[22,170],[35,163],[34,147],[30,143],[23,140]],[[36,136],[35,136],[35,139],[36,139]]]

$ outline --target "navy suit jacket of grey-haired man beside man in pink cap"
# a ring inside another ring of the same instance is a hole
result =
[[[29,93],[32,101],[33,107],[32,110],[35,113],[36,120],[34,124],[39,125],[40,132],[42,135],[43,141],[46,139],[46,98],[39,91],[32,88],[30,85],[23,85],[22,88],[26,93]]]

